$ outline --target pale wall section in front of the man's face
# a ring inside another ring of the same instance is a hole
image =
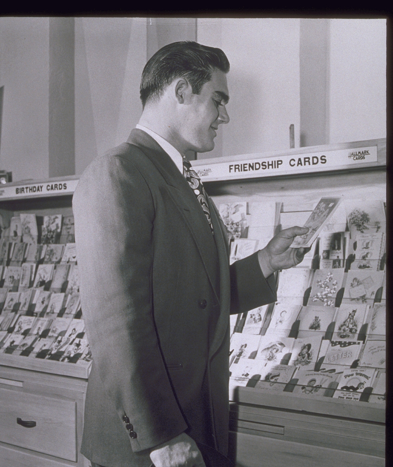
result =
[[[230,122],[198,159],[287,149],[291,123],[299,146],[299,28],[290,18],[198,19],[198,42],[222,48],[230,62]]]

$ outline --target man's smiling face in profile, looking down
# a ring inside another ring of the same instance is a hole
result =
[[[229,99],[226,75],[220,70],[212,73],[212,79],[202,86],[199,94],[192,94],[185,103],[181,139],[189,150],[207,152],[214,148],[214,138],[221,123],[228,123],[225,104]]]

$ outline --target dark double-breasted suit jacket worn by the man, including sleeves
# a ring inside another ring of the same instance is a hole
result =
[[[186,431],[226,454],[229,312],[276,300],[254,254],[229,267],[172,159],[145,132],[96,158],[73,198],[89,376],[81,452],[107,467],[150,466]]]

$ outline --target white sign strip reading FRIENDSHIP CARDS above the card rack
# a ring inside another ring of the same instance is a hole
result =
[[[193,167],[202,181],[214,181],[347,169],[372,162],[378,162],[377,146],[271,157],[250,154],[250,158],[244,160],[194,164]]]

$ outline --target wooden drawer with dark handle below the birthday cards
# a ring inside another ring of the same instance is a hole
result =
[[[1,388],[0,441],[76,462],[76,402]]]

